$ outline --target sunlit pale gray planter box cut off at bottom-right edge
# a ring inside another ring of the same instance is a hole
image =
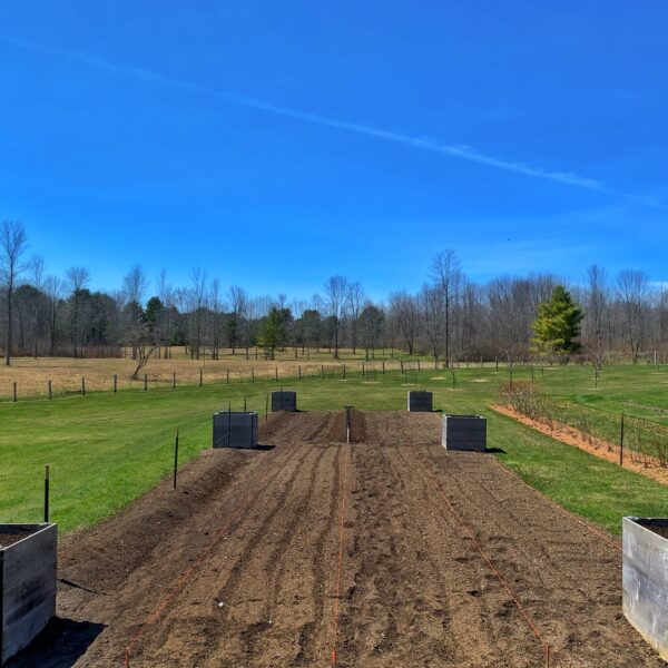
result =
[[[623,518],[622,609],[668,660],[668,519]]]

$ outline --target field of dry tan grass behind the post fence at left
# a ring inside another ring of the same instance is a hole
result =
[[[402,354],[385,351],[376,352],[375,362],[370,362],[370,367],[382,366],[385,360],[387,365],[397,366]],[[81,392],[81,379],[86,379],[87,392],[111,390],[114,376],[117,376],[118,390],[141,389],[144,374],[147,376],[148,386],[169,385],[174,381],[178,384],[204,384],[239,382],[250,380],[252,374],[256,380],[274,379],[276,370],[278,377],[295,377],[302,367],[303,375],[316,375],[323,372],[333,372],[345,363],[351,370],[360,370],[364,361],[363,351],[340,351],[340,358],[335,360],[326,348],[321,352],[299,348],[297,355],[293,348],[276,353],[276,360],[265,360],[262,350],[250,348],[248,358],[244,350],[225,348],[220,351],[219,360],[204,356],[200,360],[190,358],[183,347],[173,347],[170,358],[151,357],[147,365],[134,379],[132,373],[137,362],[131,358],[131,351],[126,351],[126,357],[111,358],[78,358],[71,357],[13,357],[11,366],[0,366],[0,397],[12,397],[13,383],[17,383],[18,396],[39,396],[48,394],[48,384],[51,381],[53,394],[73,394]]]

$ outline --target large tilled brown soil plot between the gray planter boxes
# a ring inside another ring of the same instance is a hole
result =
[[[342,413],[273,415],[265,450],[69,537],[59,618],[9,666],[664,665],[622,618],[616,539],[445,452],[436,414],[355,413],[344,440]]]

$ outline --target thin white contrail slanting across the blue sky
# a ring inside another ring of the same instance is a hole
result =
[[[400,132],[394,132],[391,130],[384,130],[381,128],[375,128],[373,126],[367,126],[358,122],[351,122],[346,120],[341,120],[337,118],[331,118],[328,116],[322,116],[320,114],[311,114],[308,111],[302,111],[299,109],[293,109],[291,107],[282,107],[279,105],[274,105],[273,102],[261,100],[256,98],[246,97],[243,95],[238,95],[233,91],[222,91],[213,88],[208,88],[206,86],[200,86],[199,84],[195,84],[193,81],[188,81],[185,79],[178,79],[174,77],[167,77],[165,75],[160,75],[158,72],[147,70],[144,68],[136,67],[127,67],[120,66],[112,62],[109,62],[102,58],[96,56],[89,56],[87,53],[81,53],[78,51],[70,51],[63,49],[53,49],[49,47],[43,47],[40,45],[36,45],[33,42],[10,37],[6,35],[0,35],[0,40],[6,43],[12,45],[17,48],[28,50],[35,53],[40,53],[43,56],[51,56],[57,58],[62,58],[72,62],[78,62],[80,65],[85,65],[87,67],[96,68],[101,71],[106,71],[112,75],[120,75],[124,77],[132,77],[135,79],[141,79],[145,81],[149,81],[153,84],[158,84],[161,86],[170,87],[178,90],[184,90],[188,92],[195,92],[197,95],[216,98],[219,100],[225,100],[227,102],[233,102],[236,105],[240,105],[244,107],[249,107],[252,109],[257,109],[261,111],[266,111],[269,114],[274,114],[276,116],[284,116],[287,118],[293,118],[295,120],[299,120],[302,122],[310,122],[314,125],[325,126],[330,128],[335,128],[338,130],[344,130],[347,132],[355,132],[357,135],[365,135],[367,137],[374,137],[376,139],[384,139],[385,141],[393,141],[395,144],[402,144],[404,146],[410,146],[412,148],[419,148],[422,150],[430,150],[433,153],[440,153],[452,158],[458,158],[460,160],[468,160],[470,163],[478,163],[479,165],[485,165],[488,167],[493,167],[495,169],[502,169],[504,171],[512,171],[514,174],[521,174],[523,176],[530,176],[533,178],[541,178],[550,181],[556,181],[559,184],[576,186],[578,188],[584,188],[588,190],[596,190],[598,193],[606,193],[609,195],[617,195],[620,197],[625,197],[627,199],[632,199],[635,202],[648,205],[656,206],[660,208],[667,208],[666,205],[660,203],[659,200],[650,197],[645,197],[640,195],[633,195],[630,193],[623,193],[619,190],[613,190],[611,188],[606,187],[599,180],[592,178],[586,178],[579,176],[577,174],[571,174],[568,171],[551,171],[548,169],[542,169],[541,167],[534,167],[530,165],[525,165],[523,163],[518,163],[513,160],[504,160],[501,158],[495,158],[492,156],[488,156],[477,151],[470,146],[460,145],[460,144],[440,144],[431,138],[420,138],[420,137],[411,137],[409,135],[403,135]]]

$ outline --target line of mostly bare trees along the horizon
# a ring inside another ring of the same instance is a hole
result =
[[[593,265],[580,283],[552,273],[470,281],[456,252],[438,253],[420,291],[371,299],[360,282],[332,276],[310,299],[252,296],[195,268],[188,285],[174,286],[163,271],[150,282],[140,265],[118,289],[90,289],[90,272],[71,266],[46,273],[29,256],[23,225],[0,225],[0,335],[4,363],[19,356],[117,356],[132,351],[137,371],[151,357],[186,346],[194,360],[218,358],[224,348],[267,358],[292,348],[338,357],[341,348],[374,358],[379,348],[429,354],[445,365],[461,361],[527,361],[534,352],[534,322],[557,286],[568,287],[582,311],[578,343],[597,363],[619,354],[633,362],[647,351],[668,352],[668,292],[637,269],[612,276]]]

